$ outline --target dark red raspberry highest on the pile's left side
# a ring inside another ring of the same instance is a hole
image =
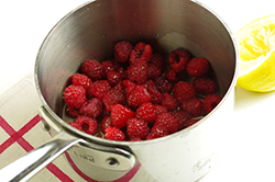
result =
[[[88,76],[91,80],[98,80],[103,75],[103,68],[97,60],[85,60],[80,68],[81,72]]]

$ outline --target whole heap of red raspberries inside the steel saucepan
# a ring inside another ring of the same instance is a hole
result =
[[[221,98],[209,61],[179,48],[167,61],[143,42],[121,41],[114,59],[85,60],[63,99],[73,127],[110,140],[167,136],[202,118]]]

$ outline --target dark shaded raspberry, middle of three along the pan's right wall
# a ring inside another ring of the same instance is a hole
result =
[[[193,80],[196,91],[201,94],[212,94],[217,91],[216,82],[208,77],[198,77]]]

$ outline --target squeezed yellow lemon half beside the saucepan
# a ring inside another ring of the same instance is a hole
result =
[[[237,86],[256,92],[275,90],[275,15],[249,23],[235,39],[241,58]]]

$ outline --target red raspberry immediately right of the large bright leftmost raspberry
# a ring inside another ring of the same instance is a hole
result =
[[[111,90],[111,86],[107,80],[98,80],[95,81],[92,87],[88,90],[88,94],[102,99],[103,94],[109,90]]]

